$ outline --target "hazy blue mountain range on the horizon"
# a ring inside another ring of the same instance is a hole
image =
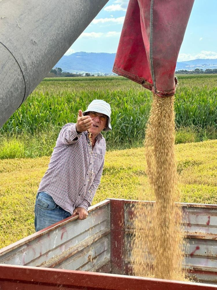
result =
[[[106,52],[75,52],[64,55],[55,67],[62,68],[69,73],[112,73],[115,53]],[[193,59],[180,61],[176,64],[176,70],[194,70],[195,68],[217,68],[217,59]]]

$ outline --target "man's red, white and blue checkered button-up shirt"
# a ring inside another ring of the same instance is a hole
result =
[[[87,131],[78,134],[76,124],[65,124],[57,138],[48,169],[38,192],[46,191],[57,205],[73,214],[76,207],[88,209],[100,184],[106,142],[98,134],[91,147]]]

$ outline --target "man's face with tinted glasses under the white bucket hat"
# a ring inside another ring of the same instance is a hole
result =
[[[102,113],[97,112],[88,112],[87,115],[89,115],[93,121],[93,127],[89,129],[89,132],[93,135],[98,135],[104,128],[106,128],[107,125],[107,119],[108,117]]]

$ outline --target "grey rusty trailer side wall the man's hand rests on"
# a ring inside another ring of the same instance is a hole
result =
[[[100,271],[110,262],[110,203],[89,208],[89,216],[58,222],[0,250],[0,264]]]

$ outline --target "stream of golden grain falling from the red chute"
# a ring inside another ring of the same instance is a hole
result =
[[[135,209],[133,274],[183,280],[183,231],[174,153],[174,96],[153,94],[146,128],[145,154],[148,180],[155,204],[138,203]],[[143,197],[140,197],[143,200]]]

